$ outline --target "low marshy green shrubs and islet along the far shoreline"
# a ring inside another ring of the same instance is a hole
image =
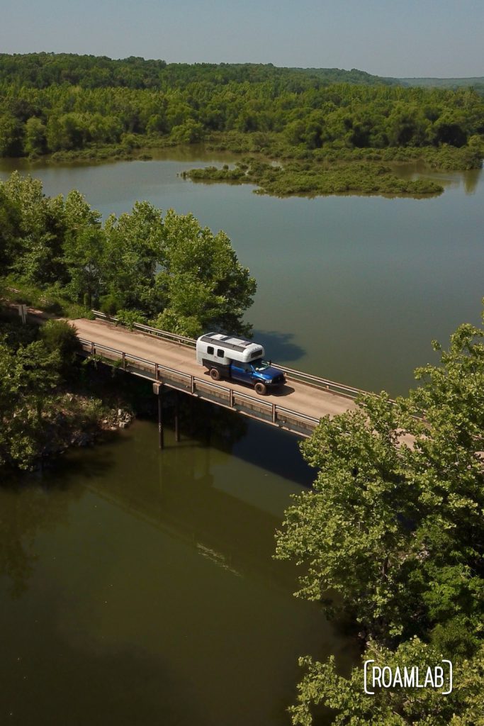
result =
[[[280,198],[349,194],[426,199],[445,191],[440,180],[429,179],[426,174],[465,172],[482,168],[483,164],[480,154],[474,154],[469,161],[465,156],[468,149],[454,147],[387,147],[380,150],[322,147],[298,158],[297,149],[290,155],[287,150],[277,154],[275,149],[242,148],[241,143],[247,147],[250,140],[250,134],[239,134],[237,139],[218,134],[197,144],[175,144],[169,138],[150,142],[141,138],[139,145],[129,148],[113,144],[37,157],[4,158],[4,166],[12,165],[12,168],[20,167],[22,172],[28,172],[30,168],[34,171],[36,166],[52,168],[71,164],[100,166],[118,161],[156,161],[165,160],[163,157],[171,156],[170,150],[173,150],[175,160],[187,162],[197,163],[194,156],[212,163],[214,157],[220,157],[215,163],[222,163],[223,168],[210,164],[181,172],[185,179],[197,183],[253,184],[255,193]],[[18,166],[14,166],[15,163]]]

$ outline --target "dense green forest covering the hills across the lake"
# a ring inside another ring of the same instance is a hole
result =
[[[282,160],[277,193],[327,193],[365,191],[353,169],[362,160],[480,166],[483,134],[474,90],[403,88],[357,70],[0,56],[0,156],[105,158],[205,142]],[[386,167],[371,176],[374,191],[436,191],[425,182],[398,189]]]

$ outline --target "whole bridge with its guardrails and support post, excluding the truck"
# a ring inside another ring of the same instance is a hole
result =
[[[128,330],[116,325],[115,318],[97,311],[94,315],[94,320],[69,321],[77,331],[83,354],[100,356],[107,364],[152,380],[159,396],[160,417],[160,396],[166,387],[300,436],[310,436],[321,417],[356,408],[354,399],[364,393],[358,388],[274,364],[286,373],[287,383],[268,396],[258,396],[248,386],[229,380],[217,383],[211,380],[208,371],[196,362],[192,338],[147,325],[136,324],[134,330]],[[161,418],[160,445],[163,445]]]

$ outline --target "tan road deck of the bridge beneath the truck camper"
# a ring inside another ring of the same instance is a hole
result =
[[[119,359],[119,353],[122,351],[126,356],[143,359],[145,364],[151,362],[152,370],[148,370],[149,367],[141,362],[136,366],[136,361],[131,359],[126,367],[136,375],[160,380],[172,388],[194,393],[213,403],[234,408],[245,415],[266,420],[267,423],[279,425],[295,433],[308,435],[322,416],[335,415],[356,407],[349,396],[301,383],[292,378],[288,378],[287,384],[279,391],[267,396],[257,396],[250,386],[228,380],[214,384],[205,367],[197,364],[192,347],[154,338],[136,330],[127,330],[102,320],[82,318],[72,320],[70,323],[75,326],[86,352],[89,352],[89,347],[92,349],[94,346],[97,353],[107,358]],[[160,368],[171,369],[173,375],[170,372],[165,375],[164,370],[156,370],[155,374],[155,364]],[[179,380],[176,372],[180,374]],[[196,386],[193,383],[194,379]],[[190,381],[191,386],[189,386]],[[272,415],[269,415],[271,409]],[[300,417],[299,422],[297,422],[298,417]]]

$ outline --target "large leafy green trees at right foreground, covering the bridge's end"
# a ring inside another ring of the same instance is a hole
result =
[[[305,657],[293,725],[311,726],[321,704],[338,726],[484,724],[483,338],[462,325],[448,350],[434,343],[440,364],[417,370],[408,398],[365,394],[321,419],[301,444],[316,481],[277,537],[279,558],[301,566],[296,594],[356,622],[361,661],[426,672],[448,658],[454,690],[370,696],[363,667],[343,677],[334,656]]]

